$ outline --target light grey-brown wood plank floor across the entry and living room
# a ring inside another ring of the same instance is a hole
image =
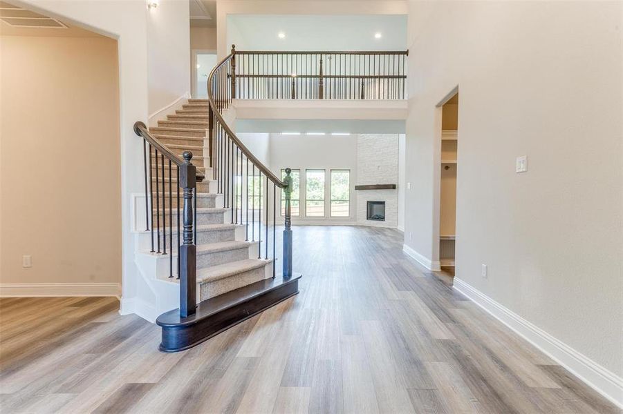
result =
[[[297,227],[295,246],[299,295],[182,353],[116,299],[1,299],[0,411],[618,412],[423,272],[397,231]]]

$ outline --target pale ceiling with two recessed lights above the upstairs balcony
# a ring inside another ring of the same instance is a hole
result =
[[[239,50],[406,50],[407,15],[233,14],[227,16],[227,44]]]

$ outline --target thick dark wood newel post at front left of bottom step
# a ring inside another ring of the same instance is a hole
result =
[[[184,151],[184,164],[180,166],[180,187],[184,193],[183,244],[180,246],[180,317],[195,313],[197,306],[197,246],[193,238],[193,192],[197,186],[197,169],[191,163],[192,152]]]

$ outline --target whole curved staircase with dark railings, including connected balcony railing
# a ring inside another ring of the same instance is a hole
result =
[[[156,319],[162,351],[199,344],[298,293],[290,168],[277,177],[236,137],[224,118],[233,99],[405,99],[407,55],[232,46],[210,72],[208,99],[189,99],[149,130],[134,125],[145,170],[147,225],[140,236],[149,236],[137,243],[145,286],[136,288],[156,297],[150,315],[178,306]],[[279,191],[285,213],[277,258]]]

